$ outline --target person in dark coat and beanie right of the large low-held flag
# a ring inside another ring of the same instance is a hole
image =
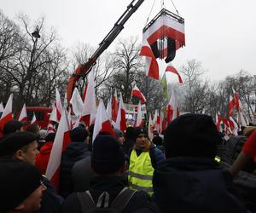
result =
[[[59,193],[63,198],[67,198],[73,193],[72,169],[73,165],[80,159],[90,155],[88,151],[88,132],[83,127],[77,127],[71,130],[70,137],[72,142],[62,153],[61,158],[61,178]]]

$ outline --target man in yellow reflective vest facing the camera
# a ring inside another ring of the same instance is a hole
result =
[[[134,130],[135,146],[129,158],[129,187],[153,194],[152,177],[157,164],[164,160],[164,154],[148,140],[143,127]]]

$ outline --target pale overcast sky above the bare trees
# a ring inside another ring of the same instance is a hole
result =
[[[162,0],[155,0],[149,20],[160,11]],[[182,66],[186,60],[199,60],[207,78],[221,80],[241,69],[256,74],[255,0],[173,0],[185,20],[186,46],[177,50],[172,61]],[[32,20],[42,15],[53,26],[64,47],[78,42],[96,46],[123,14],[131,0],[0,0],[0,9],[11,19],[22,12]],[[136,36],[142,30],[154,0],[145,0],[125,24],[119,38]],[[166,9],[175,12],[172,1]],[[113,48],[114,44],[110,46]]]

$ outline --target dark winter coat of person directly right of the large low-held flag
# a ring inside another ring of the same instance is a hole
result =
[[[61,180],[59,193],[65,199],[70,193],[73,193],[72,168],[80,159],[90,155],[85,142],[71,142],[62,153],[61,158]]]

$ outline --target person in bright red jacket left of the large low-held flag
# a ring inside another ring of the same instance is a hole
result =
[[[45,137],[44,146],[41,147],[37,158],[36,158],[36,166],[39,170],[41,170],[42,174],[45,174],[47,165],[49,162],[49,155],[53,146],[53,143],[55,141],[55,133],[49,133]]]

